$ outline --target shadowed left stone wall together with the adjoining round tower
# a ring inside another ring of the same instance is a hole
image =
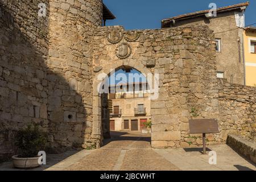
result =
[[[14,133],[28,123],[48,133],[52,148],[94,145],[90,42],[102,1],[0,1],[0,8],[0,154],[14,152]]]

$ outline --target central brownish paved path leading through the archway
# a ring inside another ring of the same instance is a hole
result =
[[[113,133],[112,138],[112,142],[64,170],[179,170],[151,150],[150,135]]]

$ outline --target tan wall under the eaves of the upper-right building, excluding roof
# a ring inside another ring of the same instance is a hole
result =
[[[217,72],[224,72],[228,82],[245,85],[243,63],[243,29],[238,28],[234,11],[218,13],[217,17],[197,17],[176,21],[174,27],[208,26],[221,39],[221,52],[216,52]],[[220,26],[221,25],[221,26]],[[239,42],[238,42],[239,40]]]

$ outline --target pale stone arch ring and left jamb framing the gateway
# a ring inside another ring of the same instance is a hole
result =
[[[130,67],[134,68],[137,71],[141,72],[143,75],[147,75],[151,72],[150,68],[147,68],[142,64],[141,61],[136,61],[133,59],[125,59],[115,61],[114,64],[110,64],[109,67],[102,69],[100,72],[96,73],[93,77],[93,109],[92,109],[92,139],[96,143],[96,147],[100,148],[102,144],[102,119],[101,119],[101,94],[98,93],[98,85],[101,83],[101,80],[98,80],[98,76],[105,74],[110,75],[112,69],[116,70],[120,67]]]

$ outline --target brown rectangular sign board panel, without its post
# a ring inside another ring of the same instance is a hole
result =
[[[191,134],[220,133],[217,119],[191,119],[189,129]]]

